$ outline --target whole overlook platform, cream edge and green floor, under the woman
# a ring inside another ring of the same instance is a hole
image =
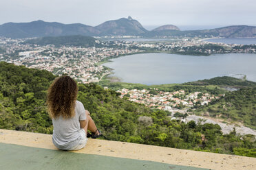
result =
[[[50,134],[0,129],[0,169],[256,169],[256,158],[91,138],[61,151]]]

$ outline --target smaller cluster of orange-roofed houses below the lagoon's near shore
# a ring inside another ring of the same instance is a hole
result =
[[[145,104],[149,108],[157,108],[160,110],[167,110],[172,113],[180,112],[185,114],[189,108],[194,108],[196,105],[208,105],[213,99],[220,99],[224,97],[222,95],[210,95],[209,93],[194,92],[185,94],[184,90],[178,90],[174,92],[164,92],[158,89],[151,90],[138,90],[122,88],[117,90],[120,93],[120,98],[128,97],[130,101],[134,101],[139,104]]]

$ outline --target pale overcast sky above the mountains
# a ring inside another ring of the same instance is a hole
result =
[[[98,25],[131,16],[143,26],[255,25],[255,0],[0,0],[0,24],[36,20]]]

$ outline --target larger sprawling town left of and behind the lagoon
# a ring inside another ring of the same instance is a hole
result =
[[[123,38],[123,39],[122,39]],[[68,74],[78,82],[99,82],[111,69],[102,66],[111,58],[134,53],[164,52],[207,56],[212,53],[256,53],[256,45],[227,45],[207,42],[202,38],[174,37],[164,41],[138,42],[125,39],[99,41],[102,47],[72,47],[54,45],[31,45],[31,39],[0,37],[0,61],[45,69],[55,75]]]

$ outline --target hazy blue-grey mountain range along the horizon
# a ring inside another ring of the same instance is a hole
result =
[[[44,36],[222,36],[226,38],[256,37],[256,27],[235,25],[217,29],[181,31],[175,25],[163,25],[151,31],[129,16],[118,20],[106,21],[95,27],[81,23],[63,24],[45,21],[30,23],[4,23],[0,25],[0,36],[8,38],[32,38]]]

